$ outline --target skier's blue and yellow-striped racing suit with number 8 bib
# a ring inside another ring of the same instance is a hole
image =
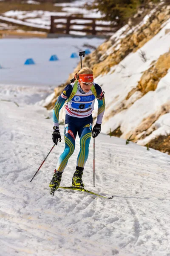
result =
[[[96,99],[98,101],[98,113],[96,123],[101,124],[105,112],[105,98],[102,88],[93,83],[96,89]],[[59,111],[70,97],[73,90],[74,83],[67,84],[55,103],[53,109],[53,122],[55,126],[59,126]],[[94,110],[95,96],[91,90],[85,93],[80,84],[77,84],[77,92],[74,97],[67,102],[65,107],[65,149],[60,155],[56,170],[63,172],[68,159],[74,152],[75,139],[77,133],[80,138],[80,151],[77,157],[77,166],[83,167],[88,159],[89,144],[91,140],[93,117],[92,111]]]

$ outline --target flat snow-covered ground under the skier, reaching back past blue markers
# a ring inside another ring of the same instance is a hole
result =
[[[100,134],[96,186],[93,140],[83,181],[86,189],[114,198],[61,189],[53,197],[48,184],[64,149],[60,125],[62,142],[30,183],[53,146],[51,111],[38,102],[77,65],[69,56],[78,42],[0,40],[0,256],[170,256],[169,155]],[[49,63],[52,54],[60,61]],[[23,66],[28,57],[37,64]],[[71,185],[78,153],[77,138],[62,186]]]

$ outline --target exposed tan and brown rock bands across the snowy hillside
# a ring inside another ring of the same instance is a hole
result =
[[[130,26],[129,24],[125,25],[108,41],[101,44],[94,52],[83,59],[83,66],[88,66],[93,69],[94,78],[113,74],[118,64],[124,60],[127,55],[134,53],[137,50],[139,51],[140,58],[143,62],[149,60],[150,56],[147,56],[146,52],[139,49],[157,35],[164,24],[166,24],[166,21],[170,19],[170,6],[161,3],[153,9],[151,13],[152,14],[148,15],[147,18],[142,20],[142,22],[136,26]],[[170,29],[166,29],[165,34],[169,35],[169,33]],[[125,69],[122,64],[119,65],[122,67],[122,70]],[[142,97],[146,96],[148,93],[154,92],[157,89],[159,81],[167,75],[169,69],[170,49],[168,52],[160,55],[159,58],[156,58],[155,61],[152,61],[148,68],[141,72],[137,84],[131,87],[131,90],[127,92],[125,98],[118,100],[119,104],[115,105],[115,108],[111,111],[106,111],[105,122],[108,122],[119,113],[122,113],[122,115],[125,114],[125,111],[136,101],[142,99]],[[72,74],[70,74],[66,84],[69,83],[78,70],[79,66]],[[57,97],[62,92],[64,86],[65,84],[55,88],[55,97],[46,108],[52,109],[54,107]],[[115,99],[112,101],[113,103],[115,102]],[[110,104],[112,104],[112,102],[110,101]],[[107,105],[106,108],[108,108]],[[166,113],[170,113],[170,102],[162,103],[155,112],[144,116],[139,125],[127,133],[124,132],[125,128],[121,125],[121,121],[117,122],[117,126],[115,127],[114,125],[114,128],[110,128],[110,131],[107,133],[110,136],[117,136],[125,139],[133,134],[133,142],[138,142],[156,129],[156,127],[154,127],[154,122]],[[168,141],[170,141],[169,134],[161,135],[154,140],[151,140],[148,145],[170,154]]]

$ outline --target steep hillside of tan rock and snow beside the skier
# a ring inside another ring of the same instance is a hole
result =
[[[105,91],[102,131],[170,154],[170,6],[161,2],[138,25],[129,22],[83,65]],[[55,89],[48,109],[62,88]]]

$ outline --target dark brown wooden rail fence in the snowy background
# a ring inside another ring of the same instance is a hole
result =
[[[118,29],[117,25],[106,25],[101,24],[101,22],[101,20],[95,18],[51,16],[50,33],[70,34],[70,32],[75,31],[92,35],[102,35],[113,33]]]

